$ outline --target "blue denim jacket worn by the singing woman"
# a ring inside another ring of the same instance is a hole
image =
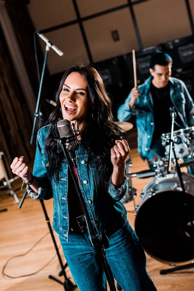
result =
[[[45,151],[45,139],[50,130],[46,126],[38,131],[37,147],[33,167],[33,175],[38,180],[38,193],[34,193],[27,185],[27,191],[33,199],[50,199],[53,197],[53,229],[68,241],[69,214],[67,204],[68,165],[63,159],[60,177],[56,181],[49,174],[49,160]],[[127,191],[127,178],[123,185],[116,188],[110,178],[107,192],[101,187],[101,171],[95,155],[88,155],[84,147],[76,149],[77,173],[81,194],[86,204],[91,222],[97,224],[101,234],[110,235],[127,220],[127,211],[119,201]]]

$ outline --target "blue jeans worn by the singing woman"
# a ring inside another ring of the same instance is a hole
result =
[[[88,232],[60,237],[65,259],[80,291],[107,291],[106,276],[97,260]],[[109,237],[107,261],[124,291],[156,291],[146,272],[146,256],[129,221]]]

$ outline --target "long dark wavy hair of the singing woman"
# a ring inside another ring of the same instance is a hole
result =
[[[111,162],[111,148],[115,145],[115,140],[123,138],[123,131],[114,123],[112,114],[112,102],[108,96],[104,83],[97,70],[92,65],[75,65],[69,68],[59,85],[55,96],[56,107],[49,116],[50,129],[45,150],[49,156],[49,171],[59,177],[62,162],[62,153],[57,153],[57,143],[54,140],[54,129],[58,120],[63,119],[61,104],[59,100],[63,84],[67,76],[77,72],[84,76],[88,87],[88,99],[90,107],[86,123],[82,130],[82,144],[88,153],[94,153],[98,158],[99,167],[102,173],[102,183],[106,188],[110,175],[113,171]]]

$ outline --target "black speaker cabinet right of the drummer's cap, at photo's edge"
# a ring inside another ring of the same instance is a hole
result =
[[[194,66],[194,36],[168,41],[165,51],[173,59],[173,70],[189,69]]]

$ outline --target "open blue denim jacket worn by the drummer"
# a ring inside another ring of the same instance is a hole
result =
[[[138,152],[143,160],[147,159],[154,133],[153,99],[149,91],[151,80],[152,76],[142,85],[138,86],[140,96],[136,100],[132,110],[129,107],[131,98],[131,94],[129,94],[125,103],[118,108],[117,112],[119,121],[129,121],[132,115],[136,115]],[[176,78],[169,78],[169,82],[170,97],[183,125],[185,128],[193,126],[194,116],[190,112],[194,109],[194,102],[184,82]]]

